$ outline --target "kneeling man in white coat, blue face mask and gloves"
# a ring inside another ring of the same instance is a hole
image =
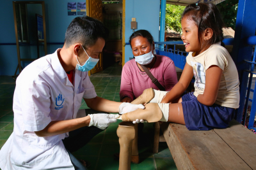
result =
[[[14,129],[0,151],[5,169],[86,169],[71,154],[116,122],[118,115],[143,105],[98,97],[88,71],[98,62],[108,30],[90,17],[76,17],[63,48],[35,60],[16,81]],[[91,113],[79,110],[84,99]]]

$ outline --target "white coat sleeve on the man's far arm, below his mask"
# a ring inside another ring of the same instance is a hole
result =
[[[83,88],[84,88],[84,99],[92,99],[97,96],[94,86],[88,76],[88,72],[84,72],[83,76]]]

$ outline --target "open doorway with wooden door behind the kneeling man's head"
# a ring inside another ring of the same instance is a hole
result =
[[[100,21],[109,29],[109,37],[106,39],[106,44],[103,48],[102,55],[100,57],[100,66],[95,66],[90,74],[102,73],[102,72],[122,72],[123,63],[123,49],[122,39],[123,35],[123,1],[99,1],[101,4],[100,8],[97,8],[96,12],[99,16],[94,16],[96,13],[93,12],[93,4],[98,3],[98,0],[87,0],[88,2],[88,16],[100,19]],[[91,3],[92,2],[92,3]],[[125,2],[125,1],[124,1]],[[87,6],[87,4],[86,4]],[[95,5],[99,7],[98,5]],[[91,8],[91,9],[90,9]],[[100,11],[99,11],[100,10]],[[100,14],[99,14],[100,13]]]

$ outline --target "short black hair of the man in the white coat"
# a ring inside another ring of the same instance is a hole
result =
[[[68,25],[65,46],[68,48],[74,43],[81,43],[88,48],[95,45],[99,38],[106,40],[108,34],[108,29],[99,20],[88,16],[76,17]]]

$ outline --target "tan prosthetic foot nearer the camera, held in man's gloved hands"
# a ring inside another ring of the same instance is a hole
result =
[[[161,103],[163,104],[163,103]],[[164,103],[166,104],[166,103]],[[167,103],[168,104],[168,103]],[[168,104],[169,106],[169,104]],[[169,110],[168,110],[169,111]],[[159,104],[157,103],[148,103],[145,106],[145,109],[138,109],[131,111],[129,113],[123,114],[120,118],[124,122],[132,122],[136,119],[143,119],[147,120],[147,122],[158,122],[163,117],[163,113],[161,109],[159,108]]]

